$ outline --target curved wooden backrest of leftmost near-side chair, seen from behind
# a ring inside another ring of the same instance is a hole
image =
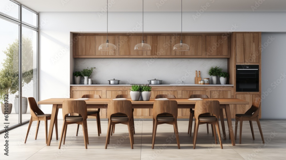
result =
[[[66,100],[63,101],[63,119],[69,113],[78,113],[82,116],[82,119],[87,119],[87,108],[85,101],[75,101],[75,100]]]

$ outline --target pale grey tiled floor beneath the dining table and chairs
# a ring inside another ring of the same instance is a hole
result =
[[[262,144],[256,123],[253,123],[255,140],[252,139],[249,123],[243,124],[242,144],[239,135],[236,146],[229,139],[223,141],[223,149],[215,145],[212,134],[206,133],[206,126],[200,125],[196,149],[192,149],[192,137],[187,134],[188,121],[178,121],[181,149],[177,148],[172,125],[158,125],[154,149],[151,149],[152,121],[135,121],[134,149],[130,148],[127,125],[117,124],[116,133],[105,148],[107,121],[101,121],[102,134],[97,136],[96,121],[88,121],[89,145],[84,148],[82,129],[75,137],[76,125],[69,125],[65,145],[58,149],[55,131],[50,146],[45,145],[45,129],[42,122],[37,140],[34,122],[27,143],[24,144],[28,125],[9,131],[9,156],[4,155],[4,134],[0,135],[0,159],[285,159],[286,120],[262,119],[261,126],[265,144]],[[225,122],[225,124],[227,124]],[[48,123],[49,125],[49,123]],[[62,121],[59,120],[59,131]],[[233,121],[234,126],[234,121]],[[226,127],[227,130],[227,127]],[[60,135],[60,133],[59,133]],[[228,137],[228,133],[227,133]],[[7,139],[6,139],[7,140]]]

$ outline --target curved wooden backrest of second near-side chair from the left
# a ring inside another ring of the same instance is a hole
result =
[[[123,113],[126,114],[128,119],[132,117],[132,103],[128,100],[117,101],[110,100],[107,107],[107,117],[110,119],[112,114]]]

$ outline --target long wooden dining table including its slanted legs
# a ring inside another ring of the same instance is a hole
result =
[[[175,100],[178,103],[178,108],[184,108],[184,109],[190,109],[194,108],[194,104],[196,104],[197,100],[188,100],[187,98],[169,98],[170,100]],[[52,112],[51,112],[51,122],[49,126],[49,134],[47,139],[47,146],[51,144],[51,139],[53,135],[53,126],[54,123],[57,123],[56,118],[57,114],[60,108],[62,108],[63,101],[65,100],[77,100],[74,98],[51,98],[51,99],[45,99],[42,101],[38,101],[38,105],[44,105],[49,104],[53,105]],[[87,108],[106,108],[108,109],[108,101],[112,99],[110,98],[90,98],[86,99],[86,106]],[[144,108],[153,108],[153,104],[156,101],[155,99],[150,99],[149,101],[132,101],[131,99],[127,99],[131,101],[132,108],[138,108],[138,109],[144,109]],[[225,132],[225,123],[224,123],[224,117],[223,117],[223,109],[225,110],[225,115],[227,118],[227,125],[229,128],[229,137],[231,139],[231,143],[233,146],[235,146],[235,137],[233,134],[233,126],[231,122],[231,109],[230,105],[247,105],[249,104],[248,101],[237,99],[237,98],[203,98],[205,101],[212,101],[216,100],[220,103],[220,120],[221,120],[221,127],[223,131],[223,139],[226,140],[226,132]]]

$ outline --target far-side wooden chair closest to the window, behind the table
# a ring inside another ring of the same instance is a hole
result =
[[[83,95],[82,98],[101,98],[100,95]],[[94,116],[96,117],[96,123],[97,123],[97,133],[98,136],[100,136],[101,134],[101,125],[100,125],[100,108],[99,109],[92,109],[92,110],[88,110],[88,116]],[[79,129],[80,125],[78,124],[78,128],[76,130],[76,136],[78,136],[78,129]]]

